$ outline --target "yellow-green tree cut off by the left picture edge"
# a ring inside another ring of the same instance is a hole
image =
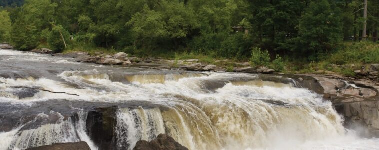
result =
[[[9,32],[11,30],[11,20],[9,12],[0,11],[0,42],[9,41]]]

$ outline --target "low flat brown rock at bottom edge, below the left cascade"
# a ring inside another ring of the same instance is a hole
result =
[[[67,150],[67,149],[75,149],[75,150],[90,150],[88,144],[84,141],[80,142],[67,142],[67,143],[54,143],[52,145],[39,146],[34,148],[28,148],[27,150]]]

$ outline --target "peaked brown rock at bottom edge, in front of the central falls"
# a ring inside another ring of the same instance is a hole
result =
[[[176,142],[172,137],[166,134],[159,134],[157,138],[148,142],[146,140],[140,140],[136,143],[133,150],[188,150],[188,148],[182,146]]]

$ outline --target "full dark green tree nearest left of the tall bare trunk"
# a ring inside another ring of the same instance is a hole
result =
[[[309,55],[332,49],[342,39],[339,10],[327,0],[311,2],[299,23],[298,52]]]

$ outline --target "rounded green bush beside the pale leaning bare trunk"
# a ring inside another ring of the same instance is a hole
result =
[[[61,25],[53,26],[47,38],[47,42],[52,48],[53,53],[58,53],[58,52],[63,51],[63,49],[65,48],[63,38],[67,44],[69,35],[70,34],[68,33],[68,31],[65,30]]]

